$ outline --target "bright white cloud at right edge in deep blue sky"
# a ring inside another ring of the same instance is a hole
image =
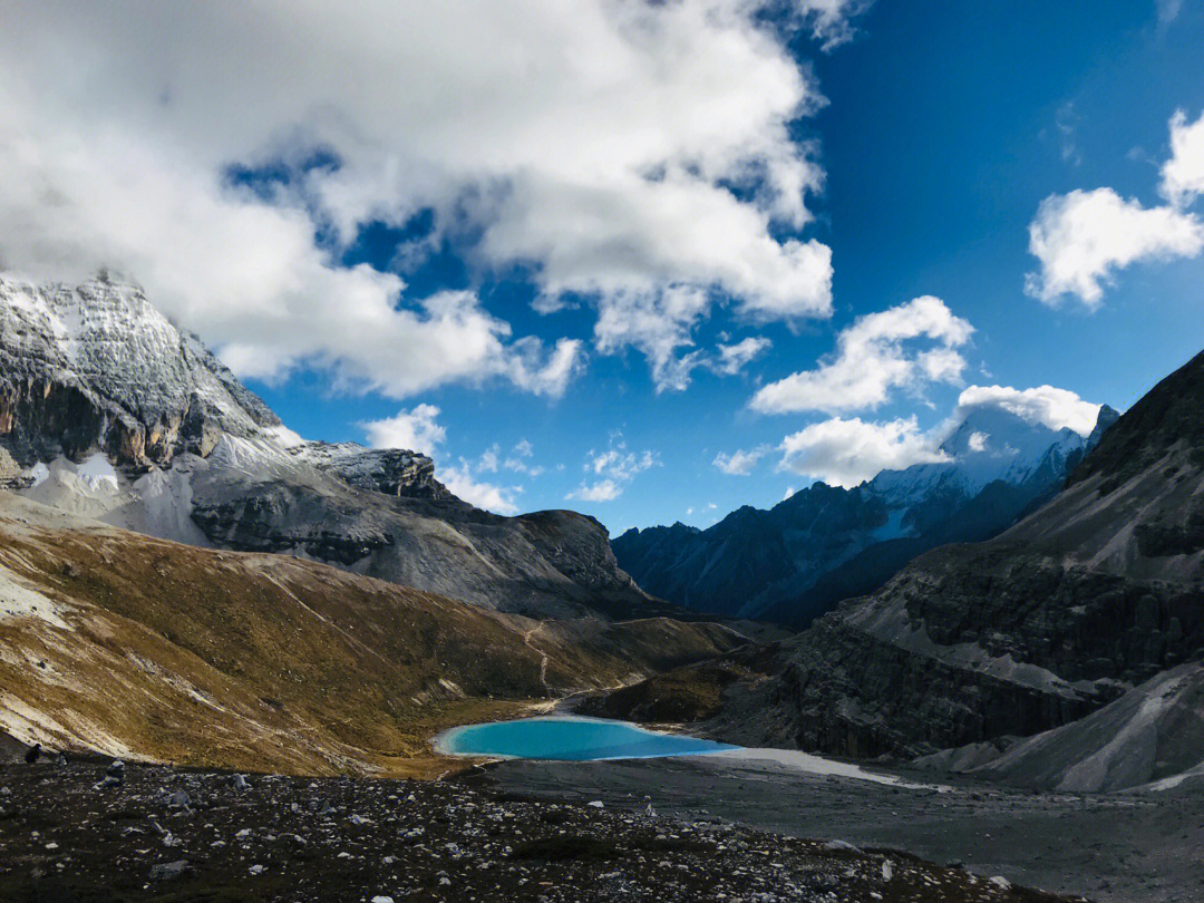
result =
[[[1174,207],[1143,207],[1110,188],[1050,195],[1028,226],[1028,250],[1041,268],[1028,273],[1026,290],[1046,303],[1075,295],[1093,309],[1116,270],[1196,256],[1202,248],[1204,224]]]

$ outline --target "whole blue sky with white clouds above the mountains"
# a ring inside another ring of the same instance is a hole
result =
[[[0,0],[0,270],[308,439],[707,526],[1204,346],[1204,0]]]

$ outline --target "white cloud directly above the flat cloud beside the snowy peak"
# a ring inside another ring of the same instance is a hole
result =
[[[957,383],[966,360],[956,350],[974,327],[931,295],[858,318],[837,336],[837,353],[815,370],[762,386],[751,406],[763,413],[875,408],[891,391],[920,391],[928,382]],[[913,343],[934,348],[920,352]]]

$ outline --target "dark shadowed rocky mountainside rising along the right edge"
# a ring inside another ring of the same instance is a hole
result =
[[[926,553],[751,674],[734,673],[748,653],[724,666],[713,730],[858,757],[956,748],[926,761],[1067,789],[1204,767],[1202,406],[1204,354],[1011,529]],[[674,685],[720,673],[697,666],[627,695],[663,706]]]

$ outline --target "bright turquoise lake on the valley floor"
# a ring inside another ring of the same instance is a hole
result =
[[[553,716],[456,727],[439,737],[438,749],[462,756],[588,762],[600,759],[687,756],[738,748],[697,737],[645,731],[625,721]]]

